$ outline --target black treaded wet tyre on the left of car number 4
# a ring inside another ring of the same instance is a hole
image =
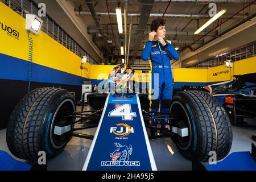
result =
[[[6,131],[9,150],[26,160],[37,160],[39,151],[45,151],[48,159],[59,154],[71,139],[72,130],[55,135],[55,126],[65,123],[72,129],[74,118],[63,115],[75,110],[75,100],[68,90],[32,90],[18,102],[10,115]]]

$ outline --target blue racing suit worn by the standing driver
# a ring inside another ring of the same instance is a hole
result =
[[[159,104],[160,113],[168,113],[172,99],[173,83],[170,59],[179,59],[179,53],[174,49],[171,42],[168,40],[164,41],[166,46],[162,46],[158,40],[148,41],[141,55],[144,61],[148,60],[151,69],[148,99],[150,100],[150,111],[152,113],[158,112]],[[151,125],[158,125],[156,119],[151,120]]]

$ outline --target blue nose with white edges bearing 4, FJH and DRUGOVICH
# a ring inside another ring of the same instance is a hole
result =
[[[156,170],[138,94],[109,94],[83,170]]]

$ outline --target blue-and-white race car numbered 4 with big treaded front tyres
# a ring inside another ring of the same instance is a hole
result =
[[[113,72],[115,78],[110,76],[110,84],[129,86],[124,82],[130,81],[133,71],[128,70],[125,79],[126,70]],[[122,84],[115,84],[118,79]],[[10,115],[7,145],[16,157],[36,161],[40,151],[46,152],[48,159],[55,157],[72,137],[92,139],[84,170],[156,170],[149,140],[163,137],[170,137],[190,160],[207,162],[212,151],[217,160],[228,155],[233,138],[229,117],[209,93],[176,93],[169,114],[152,114],[148,102],[147,94],[137,91],[92,93],[88,94],[92,110],[82,106],[76,111],[75,99],[68,90],[38,88],[24,96]],[[151,128],[151,119],[167,124],[168,129],[148,137],[146,127]],[[93,127],[97,127],[94,136],[77,132]]]

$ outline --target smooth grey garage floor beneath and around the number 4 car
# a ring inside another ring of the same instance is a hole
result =
[[[77,106],[77,110],[81,110],[81,107]],[[251,142],[253,142],[251,135],[256,135],[256,127],[232,127],[233,144],[230,153],[236,151],[251,151]],[[96,128],[81,130],[79,132],[94,135]],[[6,144],[6,129],[0,130],[0,138],[0,150],[10,153]],[[48,170],[81,170],[91,144],[92,140],[73,137],[60,155],[56,156],[54,159],[48,160]],[[254,144],[256,143],[254,142]],[[150,145],[158,170],[189,171],[192,169],[192,163],[181,156],[176,145],[170,138],[151,140]],[[173,154],[168,150],[168,146],[172,148]]]

